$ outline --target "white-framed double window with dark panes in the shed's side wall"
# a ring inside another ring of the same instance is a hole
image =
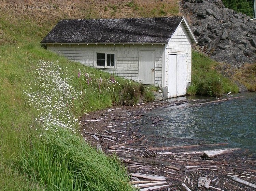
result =
[[[115,53],[96,52],[96,67],[116,68]]]

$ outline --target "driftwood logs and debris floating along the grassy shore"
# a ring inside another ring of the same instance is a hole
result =
[[[227,143],[139,134],[145,123],[161,123],[159,116],[145,115],[147,108],[159,106],[165,105],[98,111],[93,119],[81,121],[84,138],[99,152],[116,153],[127,167],[130,184],[141,191],[256,190],[255,158],[247,157],[245,150],[226,148]],[[160,139],[170,139],[174,146],[157,145]]]

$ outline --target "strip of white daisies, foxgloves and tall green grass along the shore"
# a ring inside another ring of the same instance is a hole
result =
[[[58,61],[40,60],[23,91],[35,112],[30,144],[22,144],[20,166],[43,190],[133,190],[115,156],[98,153],[77,133],[84,112],[120,103],[134,82],[81,66],[77,75]]]

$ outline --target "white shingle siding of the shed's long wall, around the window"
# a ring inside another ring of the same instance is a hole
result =
[[[139,51],[155,50],[155,84],[162,86],[162,54],[164,44],[134,44],[134,45],[86,45],[86,44],[47,44],[47,49],[57,54],[63,55],[70,60],[80,62],[86,66],[94,66],[94,52],[96,51],[115,51],[116,69],[102,69],[103,71],[115,73],[138,82]]]

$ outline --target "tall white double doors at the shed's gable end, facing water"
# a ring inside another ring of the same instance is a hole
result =
[[[186,54],[169,55],[168,64],[168,97],[173,98],[186,94]]]

